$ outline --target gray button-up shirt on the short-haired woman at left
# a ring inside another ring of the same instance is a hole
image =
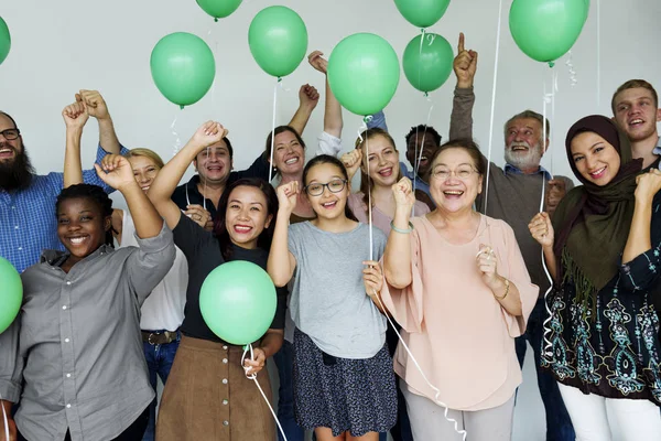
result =
[[[73,441],[111,440],[154,398],[140,306],[175,248],[166,226],[138,244],[101,246],[68,273],[66,255],[47,250],[21,276],[23,306],[0,335],[0,392],[20,398],[15,421],[26,439],[62,441],[68,429]]]

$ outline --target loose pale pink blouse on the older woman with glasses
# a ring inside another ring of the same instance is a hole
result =
[[[453,245],[426,218],[411,219],[412,283],[403,290],[384,283],[383,303],[402,325],[402,337],[437,399],[451,409],[490,409],[509,400],[521,384],[514,337],[538,299],[514,233],[502,220],[481,216],[473,240]],[[484,283],[476,263],[480,245],[496,252],[497,271],[521,295],[522,316],[510,315]],[[541,258],[541,256],[540,256]],[[409,390],[434,400],[401,342],[394,370]]]

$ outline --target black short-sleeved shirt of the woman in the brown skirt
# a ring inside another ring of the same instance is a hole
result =
[[[186,289],[186,308],[182,332],[194,338],[223,342],[207,326],[199,310],[199,290],[206,277],[218,266],[226,262],[220,251],[220,243],[209,232],[195,224],[186,216],[181,216],[176,227],[172,230],[174,244],[184,252],[188,261],[188,287]],[[247,260],[267,269],[269,251],[256,248],[246,249],[234,246],[229,261]],[[286,309],[286,288],[277,288],[278,308],[271,329],[284,329],[284,312]]]

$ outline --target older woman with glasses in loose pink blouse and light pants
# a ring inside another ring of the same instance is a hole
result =
[[[509,440],[521,369],[514,337],[538,297],[512,229],[473,209],[485,162],[472,141],[449,141],[432,159],[436,209],[411,218],[411,183],[393,185],[397,208],[383,269],[386,308],[425,381],[400,346],[394,369],[413,438],[460,440],[448,416],[472,441]]]

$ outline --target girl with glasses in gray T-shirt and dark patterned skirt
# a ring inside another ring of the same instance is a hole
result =
[[[350,185],[342,162],[316,157],[303,171],[303,184],[317,217],[290,227],[299,185],[279,187],[268,266],[278,287],[295,271],[290,308],[296,325],[296,420],[319,441],[373,441],[397,418],[386,319],[370,300],[381,288],[381,271],[378,262],[366,261],[369,227],[347,206]],[[384,245],[386,236],[375,230],[375,260]]]

